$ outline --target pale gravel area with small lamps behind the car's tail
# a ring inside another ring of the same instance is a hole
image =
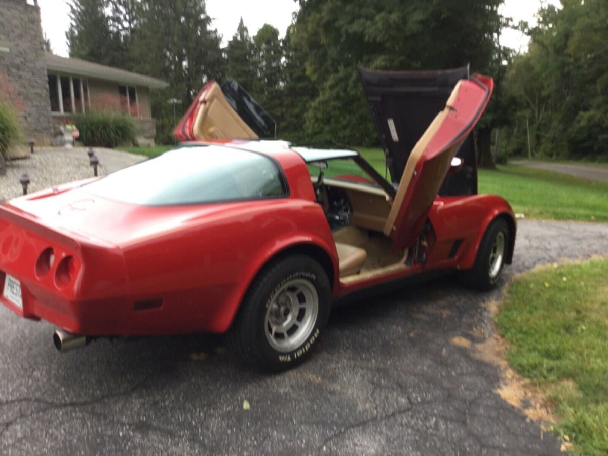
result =
[[[28,191],[35,192],[65,182],[79,181],[93,176],[88,148],[36,148],[29,159],[7,162],[6,176],[0,176],[0,200],[22,194],[19,178],[26,173],[30,178]],[[99,159],[100,176],[145,160],[146,157],[112,149],[94,148]]]

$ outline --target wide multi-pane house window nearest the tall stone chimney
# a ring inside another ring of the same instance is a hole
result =
[[[49,74],[50,111],[76,114],[91,109],[89,83],[81,78]]]

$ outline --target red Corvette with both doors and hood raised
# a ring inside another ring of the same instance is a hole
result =
[[[332,303],[352,292],[449,270],[491,288],[513,256],[513,211],[477,195],[474,155],[456,155],[492,79],[360,72],[393,183],[356,151],[252,139],[209,83],[176,129],[192,142],[0,204],[2,302],[59,326],[61,350],[210,331],[244,361],[282,370],[308,356]]]

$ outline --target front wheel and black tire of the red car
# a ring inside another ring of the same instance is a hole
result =
[[[500,250],[502,239],[502,254]],[[477,250],[475,264],[458,275],[460,282],[471,288],[488,291],[499,281],[500,272],[505,264],[506,252],[510,245],[509,228],[503,218],[497,218],[488,226]],[[500,254],[500,258],[498,257]]]

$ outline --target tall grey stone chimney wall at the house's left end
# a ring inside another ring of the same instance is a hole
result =
[[[52,135],[40,8],[26,0],[0,0],[0,100],[15,107],[27,136]]]

